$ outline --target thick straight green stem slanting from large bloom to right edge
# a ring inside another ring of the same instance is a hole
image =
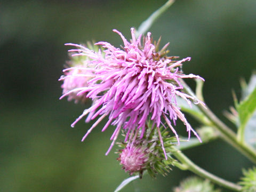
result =
[[[188,94],[195,97],[194,92],[191,91],[191,89],[185,82],[183,82],[183,87]],[[220,121],[220,119],[212,113],[209,107],[198,105],[198,108],[212,122],[215,129],[217,129],[220,132],[221,138],[223,138],[223,140],[227,141],[231,146],[240,151],[253,163],[256,163],[256,151],[252,147],[250,147],[244,142],[239,142],[237,140],[236,134],[227,125]]]

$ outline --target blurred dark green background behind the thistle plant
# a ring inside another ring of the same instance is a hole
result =
[[[87,106],[59,100],[69,49],[64,44],[94,39],[119,46],[112,29],[131,38],[130,28],[165,1],[0,1],[1,191],[114,191],[129,177],[115,149],[105,156],[113,129],[101,133],[99,125],[81,142],[91,124],[70,127]],[[192,58],[183,71],[205,78],[207,105],[230,126],[223,111],[233,105],[231,90],[239,96],[239,78],[248,81],[256,68],[255,8],[254,0],[179,0],[150,29],[155,39],[162,36],[162,45],[170,42],[170,55]],[[242,167],[252,166],[220,140],[185,153],[234,182]],[[173,167],[167,177],[146,175],[123,191],[172,191],[188,175]]]

